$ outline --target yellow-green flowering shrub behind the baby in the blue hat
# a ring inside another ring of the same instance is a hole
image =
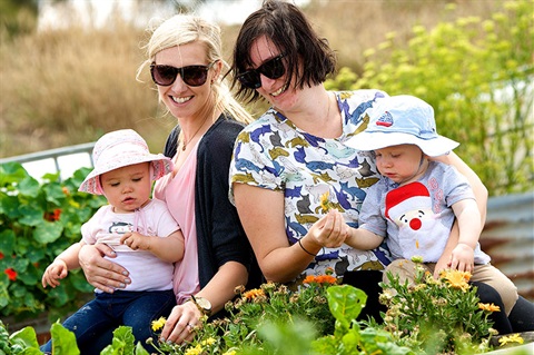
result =
[[[407,45],[388,33],[366,52],[360,78],[344,68],[327,87],[421,97],[434,107],[439,134],[461,142],[456,152],[491,195],[532,190],[533,9],[533,0],[516,0],[503,2],[490,20],[416,26]]]

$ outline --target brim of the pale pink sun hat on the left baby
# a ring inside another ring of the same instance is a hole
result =
[[[108,172],[108,171],[111,171],[111,170],[115,170],[115,169],[118,169],[118,168],[123,168],[123,167],[127,167],[127,166],[130,166],[130,165],[148,162],[148,161],[151,162],[151,167],[150,167],[150,179],[151,180],[157,180],[157,179],[164,177],[165,175],[172,171],[172,169],[175,167],[175,165],[172,164],[172,160],[170,160],[168,157],[166,157],[161,154],[158,154],[158,155],[150,154],[150,155],[147,155],[146,157],[142,157],[142,158],[136,157],[136,159],[132,160],[131,164],[122,162],[122,164],[117,165],[117,166],[108,166],[108,167],[106,167],[106,169],[95,168],[91,172],[89,172],[89,175],[86,177],[83,183],[81,183],[80,187],[78,188],[78,191],[89,193],[89,194],[93,194],[93,195],[102,195],[102,190],[101,190],[100,181],[99,181],[99,176],[100,175],[102,175],[105,172]]]

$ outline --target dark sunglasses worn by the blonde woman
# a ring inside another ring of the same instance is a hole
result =
[[[181,80],[190,87],[202,86],[208,79],[208,70],[215,65],[215,61],[209,66],[189,66],[176,68],[171,66],[150,65],[150,75],[154,82],[159,86],[168,87],[176,81],[178,73]]]

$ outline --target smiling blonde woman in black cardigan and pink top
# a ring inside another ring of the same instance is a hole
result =
[[[165,155],[175,169],[155,186],[181,227],[186,245],[176,264],[177,306],[167,318],[161,341],[192,339],[200,317],[224,308],[239,285],[261,280],[236,208],[228,200],[228,172],[234,141],[251,117],[233,98],[222,76],[220,29],[201,18],[177,14],[151,31],[146,46],[159,100],[176,117]],[[130,282],[128,270],[102,258],[111,250],[86,247],[80,264],[88,280],[105,292]],[[149,326],[149,325],[147,325]]]

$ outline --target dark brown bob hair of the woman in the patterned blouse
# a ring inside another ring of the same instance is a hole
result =
[[[293,3],[266,0],[261,9],[245,20],[234,48],[231,87],[237,85],[236,97],[239,99],[253,102],[260,98],[258,91],[244,87],[237,76],[253,68],[250,48],[263,36],[284,53],[285,85],[289,85],[295,73],[295,88],[303,89],[324,82],[336,70],[336,55],[328,41],[317,36],[305,14]]]

